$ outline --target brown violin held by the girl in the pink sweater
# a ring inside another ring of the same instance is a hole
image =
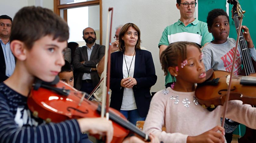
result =
[[[227,94],[229,72],[216,70],[204,83],[197,84],[195,95],[203,107],[215,108],[224,105]],[[251,76],[251,77],[250,77]],[[233,76],[229,100],[242,100],[244,104],[256,105],[256,74]]]

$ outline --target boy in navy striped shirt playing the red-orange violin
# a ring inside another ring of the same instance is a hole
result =
[[[0,142],[91,142],[81,134],[85,131],[112,140],[112,122],[105,118],[44,124],[28,109],[34,79],[51,82],[64,65],[68,38],[67,23],[49,9],[32,6],[16,13],[10,37],[16,68],[0,84]]]

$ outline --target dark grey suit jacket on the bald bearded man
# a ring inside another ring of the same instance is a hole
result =
[[[90,73],[93,87],[96,87],[100,81],[97,71],[91,71],[91,67],[95,67],[105,54],[105,46],[96,44],[92,49],[90,60],[88,60],[87,47],[78,47],[74,53],[73,66],[76,72],[74,87],[77,90],[81,89],[82,77],[84,73]],[[80,63],[85,61],[84,64]],[[88,93],[90,94],[90,93]]]

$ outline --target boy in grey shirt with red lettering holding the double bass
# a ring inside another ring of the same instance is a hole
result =
[[[208,31],[212,33],[214,40],[204,46],[202,50],[202,53],[204,54],[203,60],[205,70],[213,69],[231,72],[236,40],[228,38],[230,30],[229,16],[223,9],[213,9],[208,14],[207,25]],[[244,29],[244,38],[247,41],[249,53],[252,58],[256,60],[256,50],[249,33],[249,29],[246,26],[242,26],[242,29]],[[241,73],[241,64],[243,61],[243,57],[241,55],[241,50],[238,47],[234,66],[234,75],[239,75]],[[225,120],[225,137],[228,143],[232,141],[233,131],[236,129],[238,124],[239,123],[233,122],[230,119]]]

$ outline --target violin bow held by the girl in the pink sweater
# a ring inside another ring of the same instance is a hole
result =
[[[241,16],[241,19],[240,19],[240,25],[239,25],[239,30],[238,31],[241,31],[241,29],[242,29],[242,22],[243,22],[243,15]],[[233,63],[232,63],[232,68],[231,68],[229,81],[228,81],[228,78],[227,78],[228,91],[227,91],[226,102],[225,102],[225,106],[224,106],[224,113],[223,113],[223,118],[222,118],[222,123],[221,123],[222,127],[224,127],[226,113],[227,113],[227,110],[228,110],[228,103],[229,103],[228,101],[229,101],[229,95],[230,95],[230,90],[231,90],[231,82],[232,82],[232,77],[233,77],[233,73],[234,73],[233,69],[234,69],[234,65],[235,65],[236,52],[237,52],[237,46],[238,46],[238,42],[239,42],[240,33],[241,32],[238,32],[237,38],[236,38],[236,48],[235,48],[235,51],[234,51],[234,57],[233,57]]]

